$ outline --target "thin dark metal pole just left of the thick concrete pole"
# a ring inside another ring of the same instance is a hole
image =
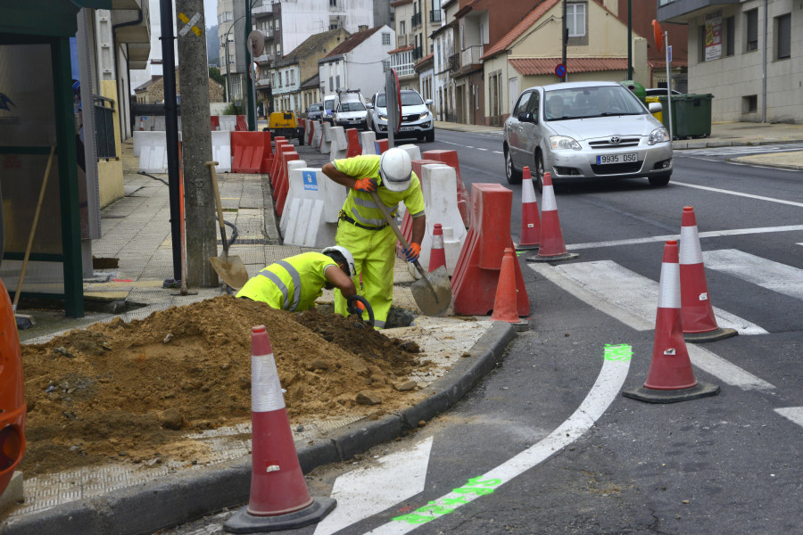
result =
[[[173,280],[181,280],[181,228],[178,183],[178,104],[176,103],[176,56],[173,53],[173,10],[170,0],[160,0],[161,58],[164,83],[164,129],[167,143],[170,238],[173,242]]]

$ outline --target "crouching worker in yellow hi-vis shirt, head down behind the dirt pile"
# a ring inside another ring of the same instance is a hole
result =
[[[306,310],[324,288],[337,288],[346,298],[355,295],[353,275],[352,253],[345,247],[327,247],[320,252],[304,252],[270,264],[248,279],[237,297],[268,303],[279,310]]]

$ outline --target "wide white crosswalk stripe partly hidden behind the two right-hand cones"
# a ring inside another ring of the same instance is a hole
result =
[[[529,266],[567,292],[575,294],[578,299],[617,318],[636,331],[650,331],[655,328],[658,283],[646,276],[612,260],[575,262],[555,267],[546,264]],[[551,276],[551,271],[558,272],[563,277]],[[573,284],[566,284],[567,279]],[[575,293],[578,288],[582,288],[584,292]],[[586,300],[588,294],[592,295],[591,300]],[[599,306],[600,303],[605,304],[604,309]],[[767,334],[762,327],[723,309],[714,307],[714,315],[720,327],[736,329],[740,334]]]

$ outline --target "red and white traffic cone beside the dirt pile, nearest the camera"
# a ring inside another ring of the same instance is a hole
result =
[[[265,325],[251,329],[251,449],[250,499],[226,531],[292,530],[319,523],[335,508],[333,498],[310,498]]]

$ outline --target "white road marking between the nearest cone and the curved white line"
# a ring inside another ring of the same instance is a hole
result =
[[[338,477],[332,488],[337,506],[313,535],[330,535],[422,492],[432,441],[429,437],[413,449],[380,457],[375,466]]]

